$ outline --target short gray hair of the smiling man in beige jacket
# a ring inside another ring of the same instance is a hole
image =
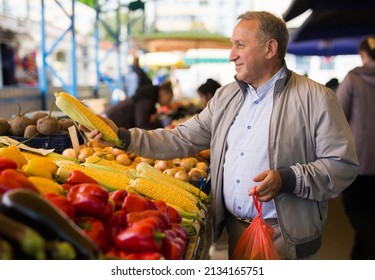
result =
[[[279,58],[284,59],[288,48],[289,31],[283,19],[265,11],[247,11],[239,15],[237,20],[258,20],[259,44],[264,45],[268,40],[275,39],[278,43]]]

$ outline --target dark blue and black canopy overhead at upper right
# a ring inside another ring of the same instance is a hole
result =
[[[290,21],[312,13],[292,30],[288,53],[332,56],[358,53],[358,43],[375,33],[374,0],[294,0],[283,14]]]

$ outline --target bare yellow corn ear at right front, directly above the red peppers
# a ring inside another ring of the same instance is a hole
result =
[[[166,203],[173,203],[181,207],[184,211],[200,215],[200,210],[196,203],[181,195],[174,189],[158,184],[146,178],[136,178],[130,180],[128,191],[135,191],[150,199],[163,200]]]

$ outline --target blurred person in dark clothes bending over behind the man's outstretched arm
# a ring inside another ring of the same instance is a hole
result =
[[[153,119],[156,106],[165,106],[173,99],[172,85],[169,81],[160,86],[141,86],[134,96],[126,97],[125,100],[107,108],[104,116],[111,119],[121,128],[144,128],[152,129],[164,127],[159,119]]]

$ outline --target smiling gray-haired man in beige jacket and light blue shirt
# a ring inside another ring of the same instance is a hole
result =
[[[317,259],[328,200],[358,172],[350,127],[331,90],[287,68],[289,33],[281,18],[249,11],[238,20],[229,56],[235,81],[220,87],[201,113],[174,129],[151,131],[106,121],[126,151],[144,157],[211,149],[214,240],[227,229],[229,257],[258,214],[250,197],[256,187],[280,258]],[[88,136],[106,143],[98,131]]]

